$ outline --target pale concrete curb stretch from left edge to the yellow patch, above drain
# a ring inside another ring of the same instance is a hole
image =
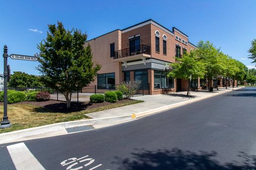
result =
[[[13,132],[1,133],[0,143],[4,143],[7,141],[15,140],[18,138],[24,138],[32,135],[38,135],[41,133],[46,133],[46,132],[51,132],[56,130],[63,130],[68,127],[94,125],[94,124],[108,123],[113,121],[131,120],[131,119],[132,119],[131,115],[125,115],[125,116],[117,116],[117,117],[110,117],[110,118],[66,121],[66,122],[48,124],[44,126],[32,127],[32,128],[17,130]]]

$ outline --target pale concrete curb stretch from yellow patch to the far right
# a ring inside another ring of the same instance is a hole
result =
[[[241,88],[243,88],[243,87],[241,87]],[[237,89],[234,89],[234,90],[238,90],[238,89],[241,89],[241,88],[237,88]],[[182,101],[182,102],[178,102],[178,103],[158,107],[156,109],[151,109],[151,110],[147,110],[147,111],[144,111],[144,112],[135,113],[133,115],[135,115],[136,118],[140,118],[140,117],[148,116],[148,115],[151,115],[151,114],[154,114],[154,113],[157,113],[157,112],[161,112],[161,111],[164,111],[164,110],[173,109],[173,108],[180,107],[180,106],[183,106],[183,105],[186,105],[186,104],[190,104],[190,103],[193,103],[193,102],[196,102],[196,101],[200,101],[200,100],[203,100],[203,99],[206,99],[206,98],[218,96],[218,95],[221,95],[221,94],[224,94],[224,93],[227,93],[227,92],[231,92],[231,91],[232,90],[228,90],[228,91],[212,94],[212,95],[209,95],[209,96],[194,98],[194,99],[190,99],[190,100],[187,100],[187,101]]]

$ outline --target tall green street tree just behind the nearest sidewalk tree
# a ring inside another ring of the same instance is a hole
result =
[[[218,75],[223,72],[223,64],[219,57],[220,50],[216,49],[209,41],[200,41],[197,45],[196,55],[198,59],[204,63],[205,76],[210,80],[213,77],[218,78]],[[208,81],[210,82],[210,81]],[[208,83],[210,91],[210,83]]]

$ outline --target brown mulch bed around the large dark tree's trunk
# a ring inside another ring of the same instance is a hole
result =
[[[104,101],[103,103],[76,103],[71,102],[70,108],[66,108],[66,102],[64,101],[57,101],[57,100],[49,100],[49,101],[23,101],[19,103],[13,103],[13,104],[30,104],[34,106],[40,106],[45,109],[48,109],[53,112],[57,113],[67,113],[67,112],[78,112],[81,110],[90,110],[99,108],[102,106],[110,105],[110,104],[119,104],[119,103],[125,103],[132,101],[132,99],[123,99],[118,100],[116,103],[109,103]],[[2,102],[0,103],[2,104]]]

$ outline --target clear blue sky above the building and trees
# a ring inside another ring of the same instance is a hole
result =
[[[171,29],[177,27],[197,44],[209,40],[249,68],[251,41],[256,38],[256,0],[1,0],[0,56],[33,55],[46,38],[47,24],[63,22],[87,32],[88,39],[117,28],[153,19]],[[38,75],[37,62],[8,59],[13,71]],[[0,59],[0,73],[3,72]]]

